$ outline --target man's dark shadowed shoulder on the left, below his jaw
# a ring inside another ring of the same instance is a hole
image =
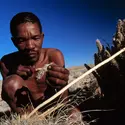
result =
[[[16,60],[16,58],[18,57],[18,55],[19,55],[18,51],[17,51],[17,52],[13,52],[13,53],[6,54],[6,55],[4,55],[4,56],[1,58],[1,61],[2,61],[2,62],[14,61],[14,60]]]

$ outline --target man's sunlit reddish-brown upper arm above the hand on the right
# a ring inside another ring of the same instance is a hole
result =
[[[65,67],[64,56],[58,49],[54,49],[52,52],[50,52],[50,61],[59,66]]]

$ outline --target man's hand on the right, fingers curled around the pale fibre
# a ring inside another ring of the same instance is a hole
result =
[[[47,80],[50,85],[62,88],[68,83],[69,71],[66,68],[52,64],[48,67]]]

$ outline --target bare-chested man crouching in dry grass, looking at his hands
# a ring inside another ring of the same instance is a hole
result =
[[[44,33],[41,23],[31,12],[21,12],[10,22],[12,42],[17,52],[1,59],[3,76],[2,98],[12,111],[31,111],[68,82],[69,71],[65,69],[64,57],[60,50],[41,48]],[[53,63],[48,71],[36,79],[37,69]],[[65,98],[68,92],[62,94]],[[26,108],[27,105],[28,108]]]

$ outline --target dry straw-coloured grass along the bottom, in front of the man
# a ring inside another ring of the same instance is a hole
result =
[[[23,116],[11,114],[10,117],[4,116],[0,119],[0,125],[85,125],[82,121],[80,112],[70,114],[74,109],[70,104],[57,103],[44,113],[36,112],[32,117],[27,119],[29,114]]]

